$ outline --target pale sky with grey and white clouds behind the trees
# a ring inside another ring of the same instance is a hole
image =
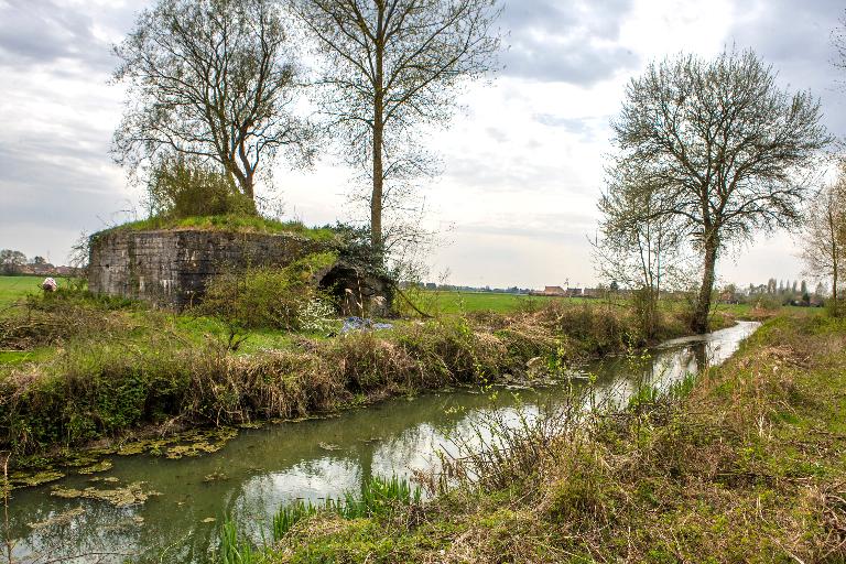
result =
[[[752,47],[792,88],[822,99],[846,135],[846,78],[832,65],[842,0],[505,0],[509,48],[492,84],[470,87],[447,131],[429,140],[443,175],[425,191],[440,232],[431,279],[491,286],[596,282],[587,238],[608,121],[627,80],[654,58]],[[142,1],[0,0],[0,248],[64,262],[80,231],[133,217],[139,191],[109,143],[123,90],[110,45]],[[350,173],[327,155],[275,171],[285,214],[306,224],[350,214]],[[719,273],[741,284],[800,276],[790,234],[759,238]]]

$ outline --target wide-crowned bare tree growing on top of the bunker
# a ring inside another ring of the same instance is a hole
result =
[[[128,84],[116,160],[137,170],[167,155],[217,163],[254,202],[260,166],[281,148],[312,155],[291,112],[296,68],[274,0],[159,0],[115,47]]]

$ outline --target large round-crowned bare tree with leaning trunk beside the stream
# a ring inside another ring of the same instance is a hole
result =
[[[612,122],[618,162],[636,163],[648,178],[640,185],[653,193],[649,216],[680,219],[702,254],[695,332],[708,328],[720,251],[759,230],[796,225],[815,156],[831,141],[820,102],[776,78],[751,51],[713,61],[680,55],[633,78]]]

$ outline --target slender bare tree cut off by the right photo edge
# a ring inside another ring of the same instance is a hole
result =
[[[836,182],[824,186],[812,198],[802,234],[804,273],[832,283],[832,314],[839,315],[838,286],[846,265],[846,170]]]

